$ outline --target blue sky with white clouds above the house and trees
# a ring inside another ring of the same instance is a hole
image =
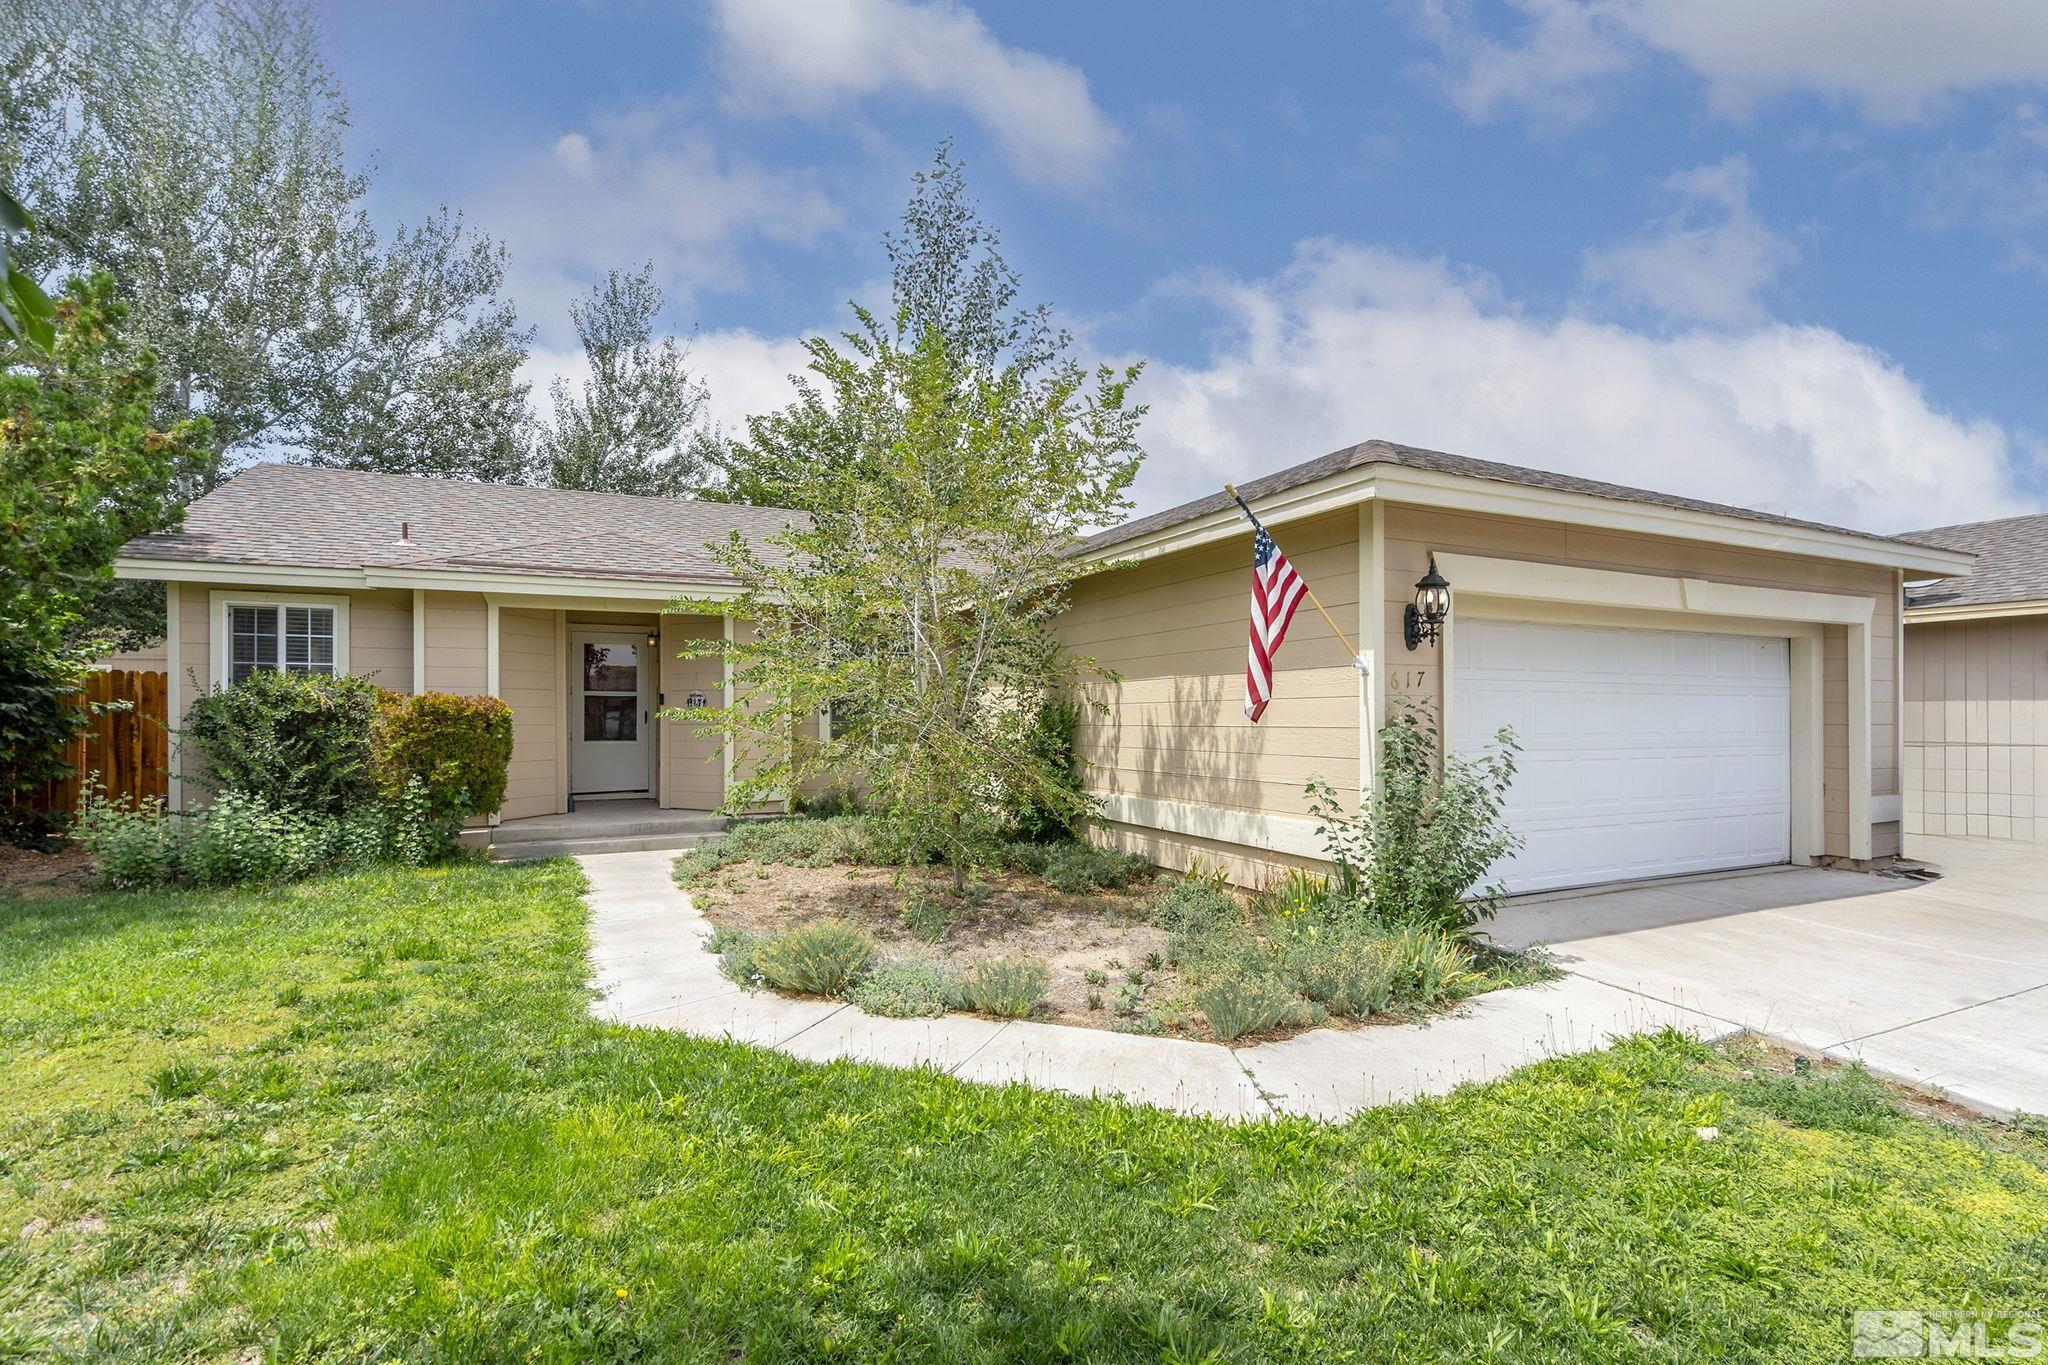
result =
[[[387,223],[512,252],[532,375],[653,260],[719,420],[872,299],[952,137],[1145,358],[1141,510],[1386,436],[1901,530],[2048,505],[2048,6],[707,0],[322,10]]]

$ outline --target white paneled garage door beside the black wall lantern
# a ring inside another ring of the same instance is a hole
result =
[[[1792,851],[1792,684],[1782,639],[1462,620],[1452,739],[1507,724],[1509,890],[1753,868]]]

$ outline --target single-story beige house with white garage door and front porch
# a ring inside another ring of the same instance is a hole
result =
[[[1901,587],[1968,553],[1380,440],[1241,491],[1370,667],[1303,608],[1253,726],[1235,503],[1085,540],[1059,628],[1114,671],[1077,741],[1108,841],[1243,882],[1315,866],[1305,784],[1356,800],[1378,720],[1423,700],[1460,749],[1520,735],[1516,890],[1901,851]],[[721,665],[676,653],[727,626],[664,606],[733,593],[702,546],[788,516],[260,465],[117,573],[168,585],[178,716],[258,667],[496,694],[502,819],[604,796],[707,810],[745,755],[655,712],[719,696]],[[1450,616],[1411,643],[1432,563]]]

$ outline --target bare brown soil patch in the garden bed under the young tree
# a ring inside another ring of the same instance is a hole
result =
[[[883,958],[926,958],[954,968],[975,958],[1040,958],[1051,982],[1032,1019],[1044,1023],[1114,1029],[1130,1027],[1147,1011],[1171,1015],[1167,1007],[1182,995],[1182,978],[1165,962],[1165,929],[1149,923],[1151,884],[1067,894],[1028,872],[1006,872],[983,886],[985,896],[963,902],[952,896],[952,880],[936,872],[739,862],[690,896],[713,925],[760,935],[811,919],[846,919],[874,935]],[[952,911],[942,937],[920,937],[905,925],[903,911],[920,890],[928,902]],[[1087,972],[1100,972],[1104,984],[1090,982]],[[1137,993],[1124,993],[1128,984]],[[1200,1017],[1192,1031],[1206,1036]]]

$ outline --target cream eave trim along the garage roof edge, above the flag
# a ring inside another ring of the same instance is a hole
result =
[[[1778,522],[1757,522],[1724,512],[1696,512],[1692,508],[1669,508],[1665,503],[1624,501],[1618,497],[1595,497],[1589,493],[1567,493],[1561,489],[1540,489],[1524,483],[1503,483],[1495,479],[1475,479],[1468,475],[1440,475],[1425,469],[1403,469],[1399,465],[1362,465],[1325,479],[1315,479],[1268,497],[1251,499],[1251,510],[1270,526],[1333,512],[1356,501],[1384,497],[1401,503],[1421,503],[1450,512],[1479,512],[1489,516],[1528,518],[1538,522],[1565,522],[1571,526],[1599,526],[1604,530],[1632,532],[1645,536],[1667,536],[1675,540],[1706,540],[1776,555],[1806,555],[1815,559],[1837,559],[1860,565],[1880,565],[1886,569],[1915,569],[1931,577],[1954,577],[1970,571],[1974,555],[1962,551],[1937,551],[1931,546],[1905,544],[1858,536],[1853,532],[1827,530],[1821,526],[1786,526]],[[1210,544],[1241,534],[1235,508],[1208,512],[1176,526],[1163,526],[1143,536],[1133,536],[1100,551],[1083,551],[1081,563],[1114,565],[1157,555]],[[1446,573],[1446,577],[1450,577]]]

